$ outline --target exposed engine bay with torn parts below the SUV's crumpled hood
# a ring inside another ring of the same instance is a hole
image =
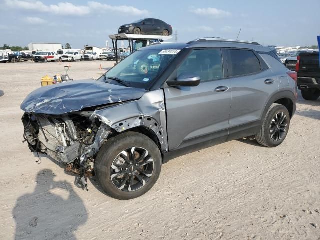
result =
[[[29,149],[67,164],[66,170],[79,174],[78,183],[86,189],[87,176],[94,170],[94,156],[111,133],[111,127],[91,113],[25,113],[22,117],[23,137]]]

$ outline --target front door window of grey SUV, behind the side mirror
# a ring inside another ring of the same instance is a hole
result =
[[[191,54],[177,69],[177,76],[192,72],[200,76],[201,81],[223,77],[222,53],[220,49],[192,50]]]

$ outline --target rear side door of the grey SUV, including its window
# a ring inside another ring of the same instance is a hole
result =
[[[263,59],[251,49],[227,49],[231,88],[229,140],[255,134],[261,115],[278,79]]]

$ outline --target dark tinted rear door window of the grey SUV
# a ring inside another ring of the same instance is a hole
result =
[[[260,61],[250,50],[229,49],[230,76],[247,75],[261,71]]]

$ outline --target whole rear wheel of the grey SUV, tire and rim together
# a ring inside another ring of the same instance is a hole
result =
[[[288,109],[273,103],[267,111],[261,130],[255,135],[258,143],[266,147],[280,145],[289,130],[290,114]]]

